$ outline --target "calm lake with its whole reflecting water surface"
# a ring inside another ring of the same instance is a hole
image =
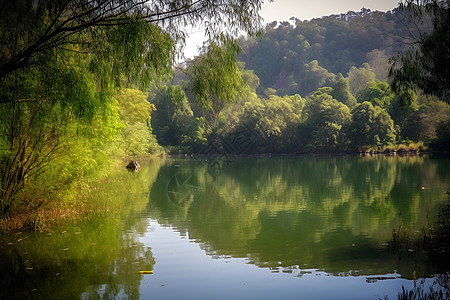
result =
[[[448,285],[422,251],[449,203],[448,158],[141,165],[92,189],[108,213],[3,235],[0,298],[397,299]]]

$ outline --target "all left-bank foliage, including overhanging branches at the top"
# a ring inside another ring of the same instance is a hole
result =
[[[1,213],[9,210],[29,179],[39,173],[45,178],[50,176],[45,170],[58,169],[52,162],[57,155],[79,161],[80,170],[66,171],[73,172],[68,178],[80,178],[78,174],[101,173],[104,157],[98,153],[158,151],[144,95],[125,90],[118,97],[119,108],[113,98],[117,88],[146,89],[153,79],[171,72],[177,42],[184,40],[179,24],[197,25],[206,18],[209,39],[220,44],[242,31],[257,31],[261,4],[1,2]],[[229,98],[220,92],[215,94],[221,100]],[[117,118],[119,109],[123,124]],[[117,131],[123,126],[120,137]],[[124,149],[109,144],[114,142]]]

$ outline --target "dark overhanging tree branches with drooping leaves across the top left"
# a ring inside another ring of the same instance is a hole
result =
[[[242,30],[252,33],[260,26],[261,4],[259,0],[1,1],[0,80],[39,64],[49,50],[68,46],[70,51],[116,54],[121,61],[111,71],[143,76],[151,68],[170,67],[173,41],[184,38],[183,26],[206,20],[208,37],[216,41]],[[224,26],[226,33],[221,30]],[[138,72],[131,72],[136,71],[131,67]]]

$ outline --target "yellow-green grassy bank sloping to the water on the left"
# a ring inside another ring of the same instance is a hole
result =
[[[137,172],[129,171],[125,166],[130,160],[137,160],[145,166]],[[42,188],[41,181],[30,183],[18,194],[10,212],[0,217],[0,232],[51,230],[69,220],[77,222],[119,211],[126,202],[120,195],[137,189],[130,189],[127,182],[132,184],[130,179],[139,176],[153,178],[163,160],[156,156],[128,157],[103,172],[103,177],[82,179],[53,188],[49,187],[50,184]],[[153,169],[149,170],[149,166]]]

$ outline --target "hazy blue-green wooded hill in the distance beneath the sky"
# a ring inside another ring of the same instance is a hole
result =
[[[361,9],[310,21],[266,25],[262,39],[240,39],[239,60],[260,79],[258,93],[267,88],[277,94],[308,95],[330,86],[339,73],[368,63],[377,79],[385,80],[388,58],[408,37],[404,16]]]

